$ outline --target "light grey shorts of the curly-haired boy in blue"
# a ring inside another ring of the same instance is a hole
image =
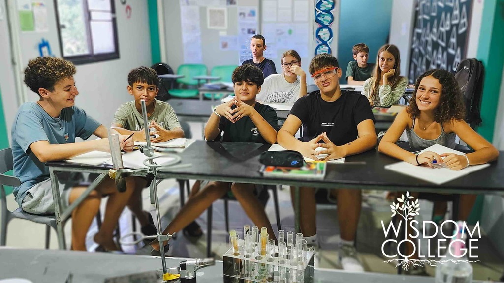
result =
[[[75,184],[77,185],[77,183]],[[61,211],[70,205],[69,184],[59,183]],[[47,179],[31,187],[21,202],[21,208],[31,214],[54,214],[54,201],[52,199],[51,180]]]

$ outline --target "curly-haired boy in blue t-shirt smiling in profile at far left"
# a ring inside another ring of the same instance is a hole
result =
[[[21,185],[14,188],[19,206],[37,215],[54,214],[54,202],[45,162],[66,160],[91,152],[110,152],[107,128],[75,106],[79,95],[75,86],[75,66],[55,57],[38,57],[30,60],[25,69],[25,84],[38,94],[37,102],[21,105],[12,127],[12,154],[14,175]],[[92,134],[102,139],[75,143],[77,136],[87,139]],[[121,149],[131,151],[133,139],[119,135]],[[62,180],[60,190],[62,211],[72,204],[86,189],[78,180]],[[72,211],[72,249],[86,250],[86,233],[100,209],[103,195],[108,195],[107,210],[100,231],[94,240],[104,250],[119,249],[112,233],[124,205],[130,199],[132,179],[127,179],[126,191],[119,193],[112,179],[106,178]],[[58,184],[60,185],[60,184]]]

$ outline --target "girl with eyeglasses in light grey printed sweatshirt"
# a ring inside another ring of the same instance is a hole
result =
[[[257,100],[269,103],[294,103],[306,95],[306,73],[301,68],[301,57],[296,50],[283,53],[282,74],[268,76]]]

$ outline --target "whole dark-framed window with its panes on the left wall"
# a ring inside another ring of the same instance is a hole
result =
[[[54,0],[63,58],[83,64],[119,58],[113,0]]]

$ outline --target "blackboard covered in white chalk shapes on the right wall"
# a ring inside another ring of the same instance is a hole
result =
[[[466,57],[473,0],[417,0],[409,80],[439,68],[455,73]]]

